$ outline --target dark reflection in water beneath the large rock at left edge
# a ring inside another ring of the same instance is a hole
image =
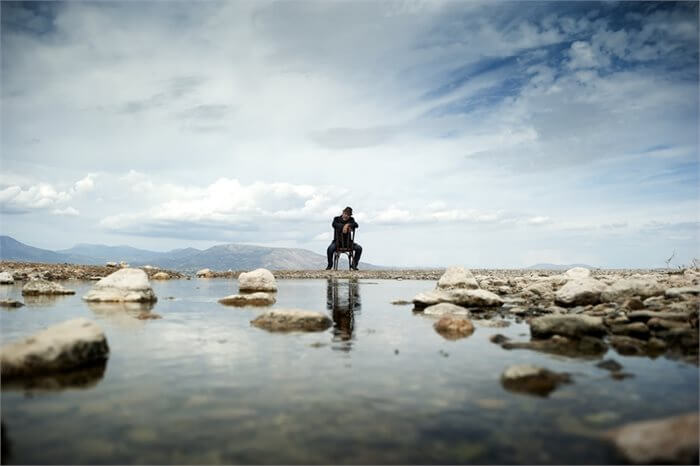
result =
[[[97,385],[104,377],[107,361],[102,361],[90,367],[80,368],[69,372],[35,375],[29,377],[3,376],[3,390],[36,390],[61,391],[67,389],[86,389]]]

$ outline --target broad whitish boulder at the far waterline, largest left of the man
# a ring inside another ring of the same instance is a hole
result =
[[[154,302],[148,275],[141,269],[120,269],[101,279],[83,296],[91,302]]]

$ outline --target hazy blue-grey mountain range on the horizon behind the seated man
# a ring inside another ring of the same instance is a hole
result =
[[[104,264],[125,261],[133,266],[153,265],[172,270],[196,271],[251,270],[264,267],[270,270],[320,269],[326,266],[326,257],[307,249],[268,248],[244,244],[222,244],[209,249],[173,249],[155,252],[130,246],[77,244],[70,249],[49,251],[34,248],[9,236],[0,236],[0,258],[4,260],[46,263]],[[341,264],[347,262],[343,261]],[[362,268],[383,267],[360,263]]]

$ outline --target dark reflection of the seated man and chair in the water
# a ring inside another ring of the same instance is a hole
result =
[[[329,278],[326,282],[326,308],[333,312],[333,349],[352,349],[355,313],[360,311],[360,285],[356,278],[338,280]]]

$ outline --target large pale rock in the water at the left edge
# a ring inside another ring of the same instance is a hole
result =
[[[0,349],[3,379],[42,375],[103,362],[109,355],[102,329],[84,318],[53,325]]]

